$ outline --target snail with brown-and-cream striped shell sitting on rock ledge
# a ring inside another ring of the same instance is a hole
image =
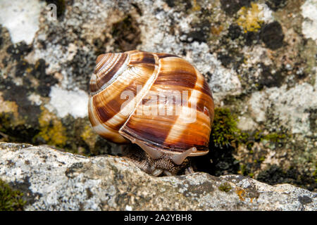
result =
[[[137,144],[151,161],[138,163],[146,172],[175,174],[188,156],[209,152],[213,96],[187,60],[137,50],[104,53],[89,89],[94,131],[108,141]]]

